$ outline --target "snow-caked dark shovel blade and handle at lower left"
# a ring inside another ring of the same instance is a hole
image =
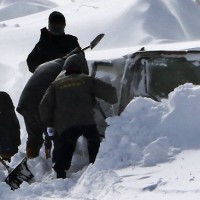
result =
[[[9,167],[1,157],[0,162],[8,171],[5,182],[11,187],[11,190],[18,189],[23,181],[29,182],[34,177],[27,166],[26,157],[14,169]]]

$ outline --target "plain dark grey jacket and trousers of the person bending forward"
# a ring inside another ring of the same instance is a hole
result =
[[[39,117],[35,118],[32,116],[38,116],[40,101],[44,96],[47,88],[62,71],[64,62],[65,62],[64,59],[56,59],[40,65],[37,68],[37,70],[33,73],[33,75],[31,76],[31,78],[29,79],[29,81],[27,82],[22,91],[17,106],[17,112],[19,112],[24,117],[24,121],[26,125],[28,125],[26,129],[28,132],[27,145],[29,146],[30,144],[36,142],[38,142],[38,146],[41,145],[43,137],[42,134],[43,129],[41,129],[40,125],[39,126],[34,125],[38,124],[37,122]],[[87,69],[84,68],[83,70],[85,70],[86,72],[88,71],[88,68]],[[45,147],[47,148],[49,145],[49,140],[46,139],[45,139]]]

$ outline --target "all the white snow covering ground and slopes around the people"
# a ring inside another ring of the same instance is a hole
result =
[[[118,58],[143,46],[200,46],[200,6],[193,0],[1,0],[0,84],[15,106],[31,76],[26,57],[54,10],[66,16],[66,32],[76,35],[82,47],[105,33],[86,52],[88,60]],[[7,172],[0,165],[0,199],[199,199],[199,99],[200,86],[191,83],[177,87],[161,102],[133,99],[120,116],[107,118],[106,138],[94,165],[88,166],[86,141],[79,138],[64,180],[55,178],[43,149],[28,161],[35,177],[32,184],[23,182],[18,190],[11,191],[4,182]],[[27,133],[18,117],[22,145],[11,167],[25,156]]]

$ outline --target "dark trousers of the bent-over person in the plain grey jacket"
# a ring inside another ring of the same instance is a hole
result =
[[[44,142],[45,148],[51,149],[51,140],[49,139],[46,127],[40,120],[38,112],[24,112],[23,113],[26,131],[28,133],[28,139],[26,143],[27,148],[40,149]],[[45,140],[43,139],[43,133],[45,134]]]

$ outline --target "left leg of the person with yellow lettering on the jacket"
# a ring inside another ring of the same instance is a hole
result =
[[[57,173],[57,178],[66,178],[66,171],[71,166],[76,142],[80,135],[79,129],[73,127],[54,139],[52,161],[55,163],[53,168]]]

